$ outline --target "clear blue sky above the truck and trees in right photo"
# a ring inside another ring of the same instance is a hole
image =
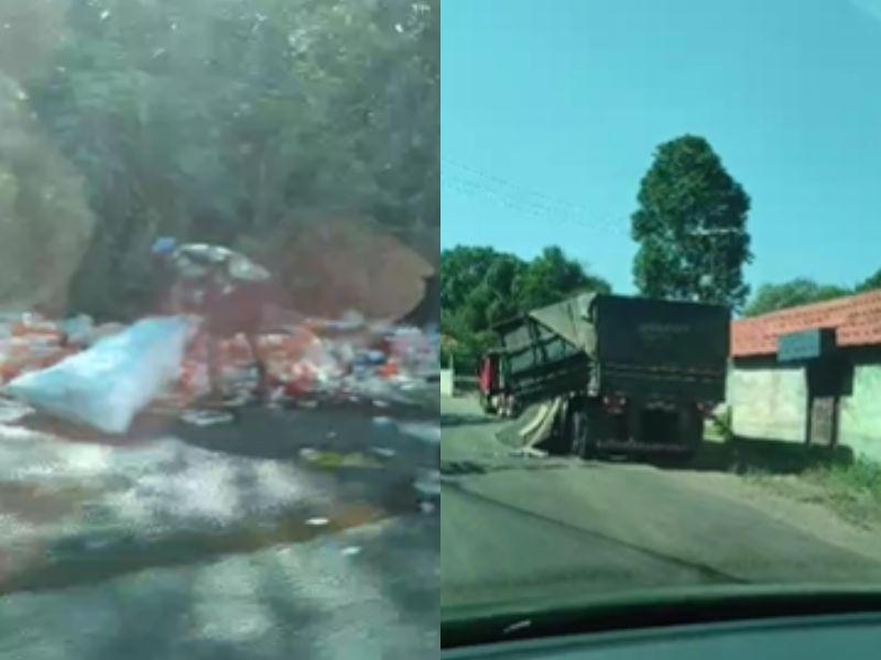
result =
[[[444,0],[442,246],[559,244],[631,292],[661,142],[752,198],[757,286],[881,267],[881,0]]]

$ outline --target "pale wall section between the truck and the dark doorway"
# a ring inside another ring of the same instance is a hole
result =
[[[728,372],[728,403],[736,436],[805,441],[807,381],[804,369],[736,365]]]

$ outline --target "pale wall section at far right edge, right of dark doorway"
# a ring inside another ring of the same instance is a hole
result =
[[[838,429],[841,444],[881,461],[881,365],[853,369],[852,394],[841,399]]]

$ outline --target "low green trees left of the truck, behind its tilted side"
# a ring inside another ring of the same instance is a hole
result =
[[[493,343],[494,323],[580,292],[610,293],[611,287],[559,248],[546,248],[531,261],[492,248],[440,253],[442,331],[468,361]]]

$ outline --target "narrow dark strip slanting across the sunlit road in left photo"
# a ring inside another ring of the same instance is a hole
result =
[[[296,517],[247,529],[189,532],[155,540],[123,535],[68,538],[46,548],[26,569],[4,571],[0,595],[95,584],[146,569],[191,565],[273,546],[304,543],[392,515],[367,504],[337,506],[322,514],[327,524],[320,526],[309,525],[301,512]]]

